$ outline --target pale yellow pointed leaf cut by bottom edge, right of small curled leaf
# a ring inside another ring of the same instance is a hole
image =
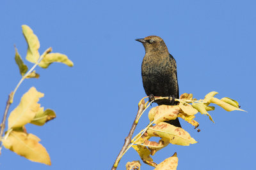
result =
[[[177,153],[175,152],[172,157],[165,159],[163,162],[158,164],[154,170],[176,170],[178,160]]]

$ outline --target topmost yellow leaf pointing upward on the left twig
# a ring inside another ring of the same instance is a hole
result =
[[[40,57],[40,54],[38,52],[38,49],[40,48],[38,38],[28,25],[22,25],[22,32],[28,43],[28,52],[26,59],[29,62],[36,63]]]

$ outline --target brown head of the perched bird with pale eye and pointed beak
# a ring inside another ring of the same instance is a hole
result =
[[[143,44],[147,52],[168,52],[164,40],[159,36],[147,36],[145,38],[135,39]]]

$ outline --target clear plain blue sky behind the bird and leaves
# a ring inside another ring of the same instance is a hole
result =
[[[141,61],[145,53],[136,38],[157,35],[177,61],[180,94],[239,101],[241,111],[216,107],[216,122],[197,115],[201,132],[180,120],[198,141],[169,145],[156,153],[160,163],[177,152],[178,169],[256,169],[255,166],[255,1],[2,1],[0,5],[0,111],[20,80],[15,44],[23,59],[26,41],[21,25],[40,40],[40,53],[52,46],[74,67],[52,64],[36,68],[38,80],[20,86],[12,111],[32,86],[45,97],[40,104],[57,118],[27,130],[42,139],[52,166],[30,162],[3,149],[0,169],[110,169],[124,144],[138,102],[145,96]],[[28,66],[32,65],[27,62]],[[1,113],[1,114],[2,114]],[[148,124],[147,114],[138,129]],[[118,169],[140,160],[129,150]],[[141,169],[152,169],[143,164]]]

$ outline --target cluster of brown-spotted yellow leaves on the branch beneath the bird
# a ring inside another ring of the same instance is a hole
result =
[[[184,129],[167,124],[165,122],[166,120],[175,120],[177,117],[180,117],[197,129],[199,124],[195,120],[195,115],[198,112],[207,115],[209,119],[214,122],[208,111],[212,111],[215,108],[214,106],[209,106],[210,104],[217,104],[226,111],[244,111],[240,109],[239,104],[234,99],[228,97],[217,99],[214,97],[216,94],[218,94],[218,92],[210,92],[204,99],[197,100],[193,99],[193,94],[185,93],[180,96],[180,99],[175,99],[175,101],[179,101],[179,104],[175,106],[161,105],[152,108],[148,112],[150,123],[132,139],[132,143],[127,150],[130,147],[134,148],[145,164],[156,167],[156,169],[176,169],[178,165],[176,153],[158,165],[153,162],[150,155],[155,155],[157,151],[168,146],[170,143],[173,145],[189,146],[197,143],[197,141]],[[141,99],[141,101],[145,102],[144,99],[145,97]],[[168,99],[168,97],[155,97],[154,101],[161,99]],[[143,103],[141,101],[140,103]],[[147,110],[154,101],[150,103],[147,102],[147,104],[145,104],[145,110]],[[143,110],[143,112],[145,110]],[[198,132],[199,131],[200,129],[198,129]],[[158,142],[150,141],[152,137],[158,137],[160,139]]]

